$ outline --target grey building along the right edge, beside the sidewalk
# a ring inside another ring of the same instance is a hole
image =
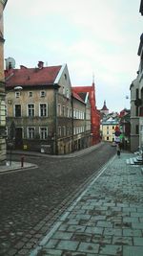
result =
[[[143,1],[139,12],[143,15]],[[130,86],[131,90],[131,151],[143,149],[143,34],[137,52],[140,62],[137,77]]]

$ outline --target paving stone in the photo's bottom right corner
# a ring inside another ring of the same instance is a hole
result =
[[[143,246],[123,246],[123,256],[142,256]]]

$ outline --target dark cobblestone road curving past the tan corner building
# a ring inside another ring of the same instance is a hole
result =
[[[0,256],[29,255],[114,153],[103,144],[73,158],[27,156],[38,168],[0,175]]]

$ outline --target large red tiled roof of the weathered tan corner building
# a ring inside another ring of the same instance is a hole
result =
[[[27,68],[21,66],[20,69],[5,71],[6,87],[17,85],[51,85],[54,83],[60,69],[59,66],[50,66],[42,68]]]

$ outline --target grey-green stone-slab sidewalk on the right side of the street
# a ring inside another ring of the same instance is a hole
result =
[[[113,156],[31,256],[142,256],[143,173]]]

